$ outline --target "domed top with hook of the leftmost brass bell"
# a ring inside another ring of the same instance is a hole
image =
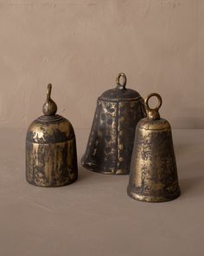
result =
[[[27,141],[34,143],[57,143],[69,141],[75,137],[73,126],[66,118],[55,115],[57,105],[51,99],[52,85],[48,84],[47,100],[42,106],[41,115],[33,121],[27,133]]]

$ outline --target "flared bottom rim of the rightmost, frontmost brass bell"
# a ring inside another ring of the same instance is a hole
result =
[[[181,189],[180,187],[177,187],[177,190],[174,194],[166,194],[166,195],[143,195],[136,193],[132,190],[130,186],[127,187],[127,194],[134,200],[139,200],[143,202],[150,202],[150,203],[162,203],[167,202],[171,200],[175,200],[181,195]]]

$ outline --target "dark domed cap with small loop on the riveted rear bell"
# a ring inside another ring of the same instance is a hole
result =
[[[120,83],[121,78],[123,82]],[[116,78],[116,88],[106,90],[100,97],[100,100],[110,101],[110,102],[122,102],[131,101],[137,98],[141,98],[141,95],[137,93],[134,89],[126,89],[127,78],[124,73],[119,73]]]

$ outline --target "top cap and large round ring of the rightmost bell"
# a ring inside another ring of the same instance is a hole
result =
[[[156,108],[150,108],[149,101],[151,97],[156,97],[158,100],[158,105]],[[169,121],[160,117],[159,108],[161,108],[163,104],[163,99],[161,95],[156,93],[152,93],[148,95],[144,100],[144,106],[146,108],[147,117],[141,119],[138,122],[138,127],[146,130],[163,130],[169,129],[170,124]]]

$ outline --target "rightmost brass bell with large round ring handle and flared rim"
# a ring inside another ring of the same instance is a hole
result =
[[[149,106],[152,96],[159,101],[156,108]],[[161,96],[150,94],[145,99],[147,118],[137,124],[127,189],[136,200],[162,202],[180,195],[171,128],[168,121],[160,118],[161,106]]]

